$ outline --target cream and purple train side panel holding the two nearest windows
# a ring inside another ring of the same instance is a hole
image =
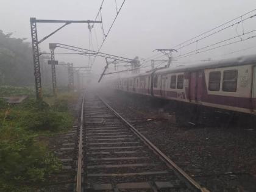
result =
[[[205,69],[202,104],[251,113],[252,70],[252,65]]]

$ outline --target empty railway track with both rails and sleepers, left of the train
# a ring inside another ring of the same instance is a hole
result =
[[[208,191],[93,93],[82,104],[78,151],[77,191]]]

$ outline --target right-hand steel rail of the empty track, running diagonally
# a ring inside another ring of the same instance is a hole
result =
[[[120,118],[125,124],[127,124],[127,126],[129,126],[130,129],[145,144],[147,144],[149,146],[149,148],[152,149],[152,151],[155,152],[155,154],[159,155],[159,157],[165,161],[166,165],[173,168],[174,171],[176,172],[177,176],[186,183],[187,187],[189,187],[193,191],[210,192],[206,188],[201,187],[201,185],[199,185],[199,183],[197,183],[194,179],[192,179],[190,176],[188,176],[188,174],[185,171],[183,171],[181,168],[179,168],[179,166],[177,166],[176,163],[172,162],[172,160],[169,157],[167,157],[165,154],[163,154],[163,152],[160,151],[160,149],[158,149],[153,143],[151,143],[151,141],[149,141],[146,137],[144,137],[144,135],[141,134],[135,127],[133,127],[132,124],[130,124],[128,121],[126,121],[126,119],[124,119],[123,116],[119,115],[118,112],[116,112],[110,105],[108,105],[107,102],[101,98],[101,96],[98,95],[98,98],[101,99],[101,101],[107,106],[107,108],[109,108],[116,116],[118,116],[118,118]]]

